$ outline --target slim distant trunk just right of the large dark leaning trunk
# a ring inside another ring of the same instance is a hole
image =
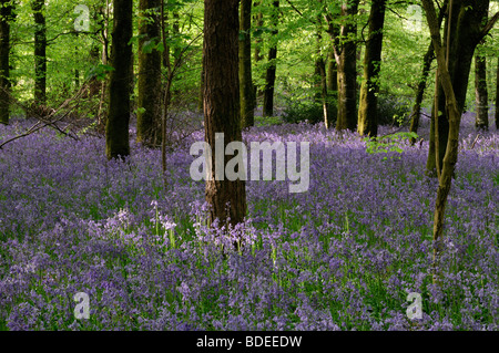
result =
[[[475,55],[475,98],[477,104],[475,126],[480,129],[489,129],[487,59],[480,53]]]

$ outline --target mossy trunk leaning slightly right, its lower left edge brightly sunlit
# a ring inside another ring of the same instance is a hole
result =
[[[369,14],[369,38],[364,54],[364,77],[360,87],[358,127],[360,136],[375,137],[378,134],[377,94],[379,92],[379,71],[381,66],[383,27],[385,23],[386,0],[373,0]]]

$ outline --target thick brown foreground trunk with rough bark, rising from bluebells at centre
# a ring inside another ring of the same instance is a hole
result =
[[[204,128],[205,139],[213,149],[212,177],[206,180],[206,201],[212,222],[236,225],[246,215],[245,181],[215,179],[215,134],[224,134],[224,146],[241,142],[238,82],[238,0],[204,1]],[[225,156],[225,164],[233,156]],[[225,166],[224,164],[224,166]],[[226,211],[228,203],[228,214]]]

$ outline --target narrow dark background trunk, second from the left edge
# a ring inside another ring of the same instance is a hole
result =
[[[34,103],[47,103],[47,24],[44,0],[33,0],[34,15]]]

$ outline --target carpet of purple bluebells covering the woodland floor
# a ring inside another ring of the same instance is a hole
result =
[[[204,183],[190,177],[202,131],[169,153],[166,186],[161,153],[133,142],[111,162],[99,137],[12,142],[0,149],[0,330],[497,331],[499,138],[493,120],[478,138],[472,124],[468,113],[440,285],[427,136],[368,153],[320,124],[253,127],[246,142],[310,142],[310,185],[247,181],[247,221],[230,231],[207,225]],[[0,143],[29,126],[0,125]],[[88,320],[75,319],[78,292]],[[411,292],[421,319],[407,315]]]

